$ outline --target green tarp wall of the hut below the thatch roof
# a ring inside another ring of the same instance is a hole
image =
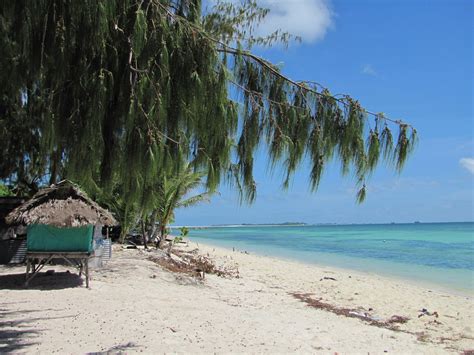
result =
[[[27,251],[91,252],[94,227],[59,228],[33,224],[27,230]]]

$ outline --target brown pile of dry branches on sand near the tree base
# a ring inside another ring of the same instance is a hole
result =
[[[198,249],[191,251],[174,250],[171,253],[151,255],[148,259],[171,272],[187,274],[204,279],[206,274],[225,278],[239,278],[236,265],[220,264],[208,256],[199,254]]]

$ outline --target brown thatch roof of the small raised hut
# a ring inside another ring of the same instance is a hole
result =
[[[74,183],[63,180],[38,191],[5,218],[8,224],[49,224],[57,227],[117,225],[112,214],[92,201]]]

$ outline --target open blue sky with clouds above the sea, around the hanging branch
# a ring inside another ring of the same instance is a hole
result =
[[[419,144],[399,175],[381,165],[368,196],[355,181],[326,170],[316,194],[302,167],[290,189],[257,156],[257,200],[239,205],[225,186],[208,204],[178,210],[176,224],[384,223],[474,220],[473,28],[471,0],[264,0],[264,30],[303,37],[288,50],[259,54],[286,75],[347,93],[375,112],[413,124]]]

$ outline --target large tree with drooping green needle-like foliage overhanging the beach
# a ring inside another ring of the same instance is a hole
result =
[[[381,158],[401,170],[411,126],[295,82],[249,51],[290,39],[253,36],[267,14],[255,0],[201,13],[200,0],[0,1],[0,179],[120,191],[124,210],[144,216],[162,172],[182,161],[205,171],[208,190],[225,180],[253,201],[261,144],[285,169],[284,186],[307,156],[316,190],[336,157],[360,201]]]

